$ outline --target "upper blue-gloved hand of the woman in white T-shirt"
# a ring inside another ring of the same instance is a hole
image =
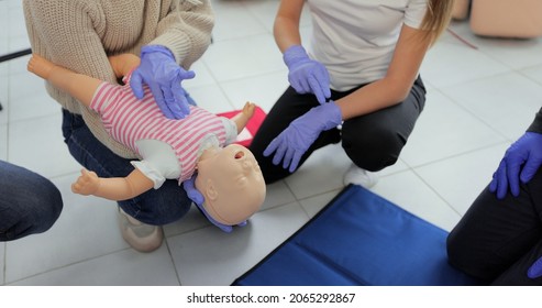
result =
[[[286,50],[283,58],[289,70],[288,81],[298,94],[313,94],[320,103],[331,97],[328,69],[321,63],[310,59],[301,45]]]

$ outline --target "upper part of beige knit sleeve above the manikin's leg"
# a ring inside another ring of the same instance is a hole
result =
[[[32,51],[76,73],[114,82],[100,32],[104,16],[96,2],[24,0]]]

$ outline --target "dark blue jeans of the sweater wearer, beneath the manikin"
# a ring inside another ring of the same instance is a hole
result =
[[[79,164],[100,177],[125,177],[134,167],[98,141],[79,114],[63,110],[64,142]],[[178,180],[167,179],[159,189],[151,189],[133,199],[119,201],[119,207],[141,222],[162,226],[184,217],[191,206]]]

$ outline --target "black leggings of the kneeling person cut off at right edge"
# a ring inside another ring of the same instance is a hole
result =
[[[493,285],[542,285],[528,268],[542,256],[542,169],[505,199],[486,187],[447,238],[450,263]]]

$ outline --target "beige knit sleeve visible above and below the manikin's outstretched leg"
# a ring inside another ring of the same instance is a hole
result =
[[[79,74],[117,82],[100,34],[106,31],[103,11],[96,1],[24,0],[23,11],[32,52]],[[47,92],[63,108],[81,114],[92,134],[122,157],[136,153],[114,141],[104,130],[98,113],[46,82]]]

